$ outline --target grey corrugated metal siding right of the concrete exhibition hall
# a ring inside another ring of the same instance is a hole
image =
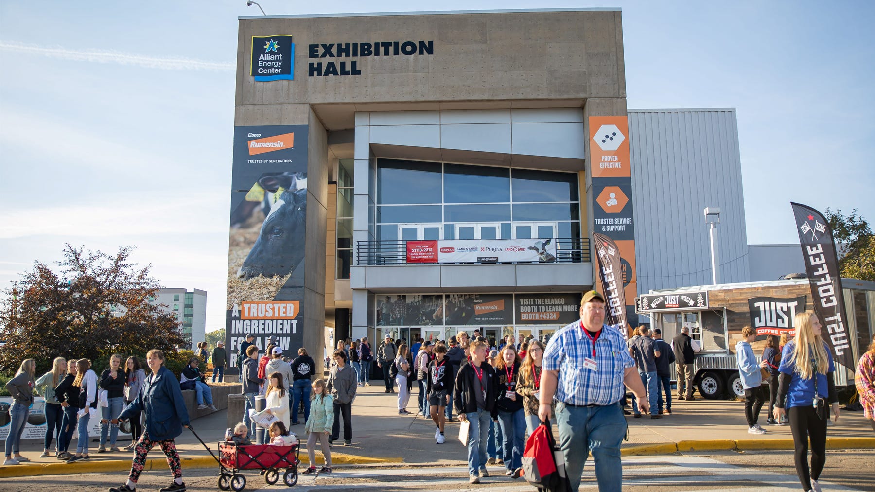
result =
[[[630,109],[638,292],[711,284],[704,207],[720,207],[721,282],[749,276],[735,109]]]

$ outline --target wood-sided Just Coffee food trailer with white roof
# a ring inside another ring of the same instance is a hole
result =
[[[856,363],[872,341],[875,282],[843,278],[842,290],[848,311],[847,350]],[[648,316],[652,327],[661,328],[662,338],[669,343],[682,327],[690,328],[690,336],[701,348],[694,362],[693,383],[703,397],[716,399],[725,393],[744,397],[735,355],[742,327],[757,329],[752,346],[760,356],[767,335],[787,332],[792,337],[795,313],[813,311],[813,306],[809,280],[795,278],[650,291],[635,298],[635,310]],[[837,363],[836,385],[853,385],[854,369]]]

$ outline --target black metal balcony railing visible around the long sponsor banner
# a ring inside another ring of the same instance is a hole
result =
[[[550,263],[590,263],[590,240],[588,237],[558,237],[553,239],[556,244],[556,262]],[[488,264],[494,264],[489,262]],[[541,263],[541,262],[498,262],[500,264]],[[441,263],[408,263],[407,241],[359,241],[356,243],[355,264],[393,265],[393,264],[441,264]],[[448,264],[448,263],[443,263]],[[449,263],[458,264],[458,263]],[[465,264],[478,264],[476,262]]]

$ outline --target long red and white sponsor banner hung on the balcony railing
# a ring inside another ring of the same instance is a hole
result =
[[[408,241],[407,263],[505,263],[556,261],[552,239]]]

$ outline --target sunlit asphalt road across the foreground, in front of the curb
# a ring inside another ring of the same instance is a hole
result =
[[[301,468],[304,469],[303,467]],[[479,485],[469,485],[467,469],[462,466],[415,467],[338,467],[332,474],[300,476],[297,492],[347,490],[489,490],[524,492],[534,488],[525,481],[503,476],[503,467],[490,467],[493,476]],[[683,453],[662,456],[641,456],[623,459],[624,490],[627,491],[705,491],[721,490],[800,490],[789,451]],[[0,490],[55,491],[106,490],[126,479],[125,473],[71,474],[63,476],[23,477],[4,479]],[[169,482],[167,472],[147,471],[141,477],[139,489],[157,490]],[[186,473],[186,485],[192,492],[214,491],[217,469],[200,469]],[[248,491],[288,489],[267,486],[257,472],[246,473]],[[282,480],[282,479],[281,479]],[[282,481],[280,482],[282,483]],[[824,490],[875,491],[875,451],[829,451],[827,465],[821,477]],[[581,490],[597,490],[591,461],[584,470]]]

